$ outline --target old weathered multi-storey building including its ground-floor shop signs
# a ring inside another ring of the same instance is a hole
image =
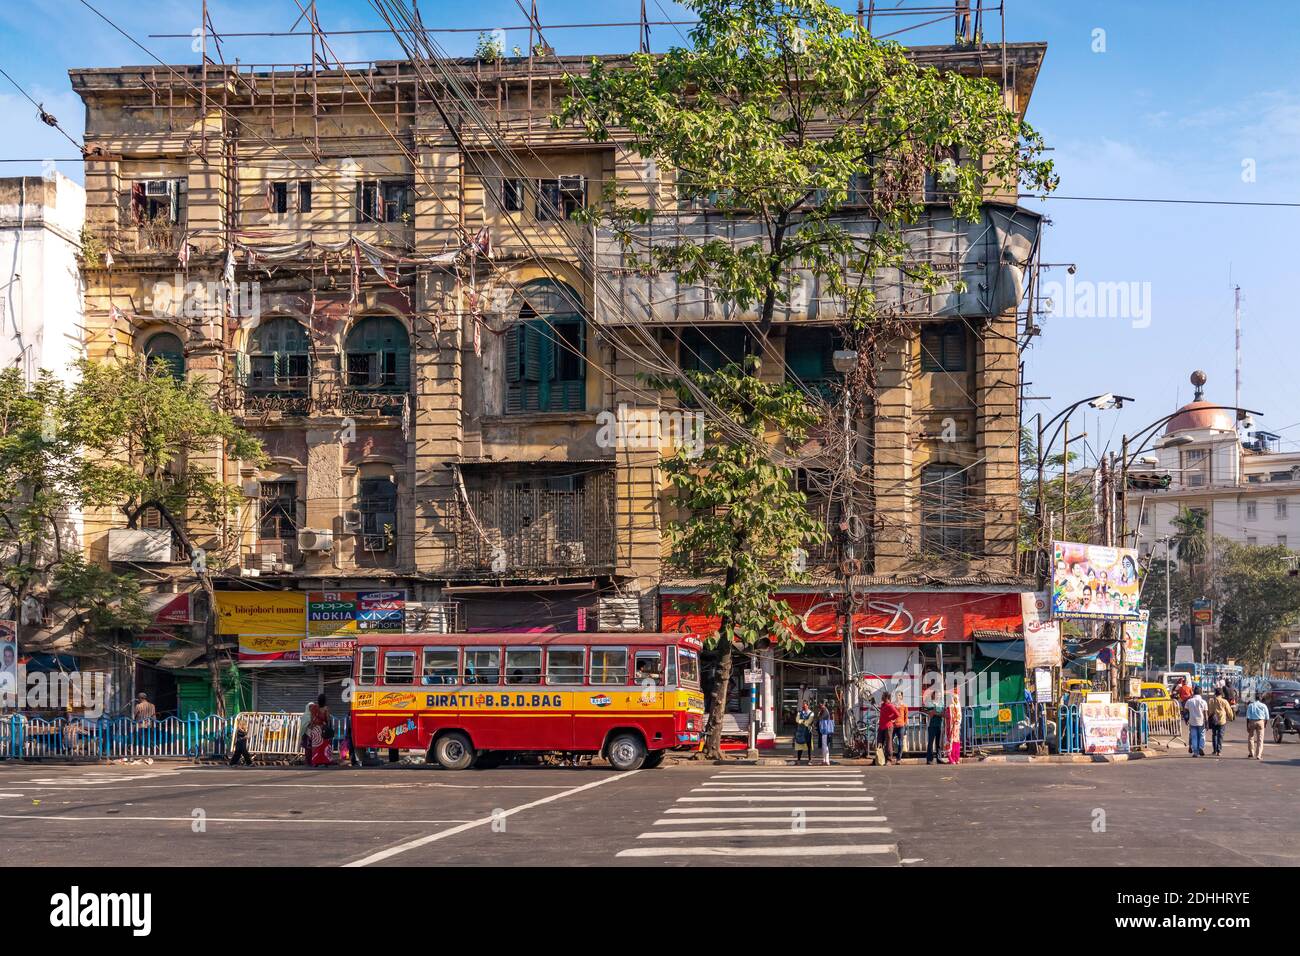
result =
[[[1043,55],[914,51],[1004,85],[1020,114]],[[659,441],[616,427],[611,440],[610,421],[658,421],[673,399],[644,373],[737,358],[746,316],[630,273],[611,237],[571,216],[618,185],[655,212],[650,230],[742,241],[744,229],[681,208],[671,170],[618,134],[598,144],[551,126],[563,72],[584,64],[72,72],[87,224],[112,252],[86,267],[91,355],[143,354],[209,382],[268,453],[261,466],[198,463],[244,489],[238,520],[195,529],[243,704],[333,692],[333,640],[370,627],[690,626],[679,605],[699,581],[663,561]],[[786,591],[807,649],[762,661],[767,736],[781,702],[838,680],[849,579],[868,598],[854,618],[868,672],[935,662],[940,648],[966,667],[982,631],[1019,627],[1017,308],[1039,217],[1014,191],[972,224],[939,193],[927,199],[916,256],[966,287],[913,300],[898,276],[879,277],[910,332],[888,346],[875,407],[855,423],[870,501],[850,529],[858,559],[841,562],[837,505],[814,497],[832,544]],[[871,228],[853,204],[842,216]],[[777,313],[760,373],[820,393],[835,376],[833,315],[805,285]],[[188,600],[188,568],[159,550],[166,532],[147,515],[121,523],[88,518],[95,554],[147,564]],[[207,609],[191,610],[174,618],[174,644],[139,648],[162,654],[140,685],[165,696],[160,675],[178,675],[182,709],[205,682],[183,622]]]

